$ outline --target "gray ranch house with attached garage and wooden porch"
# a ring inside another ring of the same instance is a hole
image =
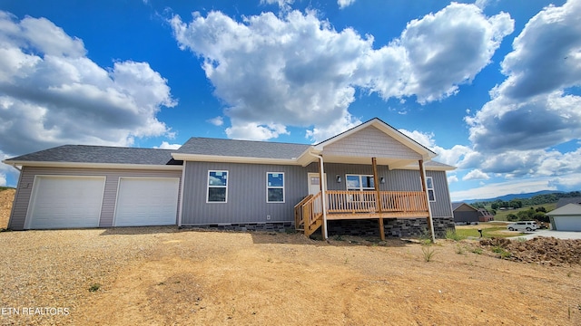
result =
[[[377,118],[316,145],[208,138],[177,150],[65,145],[3,161],[21,171],[8,227],[443,236],[454,227],[446,177],[454,167],[435,157]]]

